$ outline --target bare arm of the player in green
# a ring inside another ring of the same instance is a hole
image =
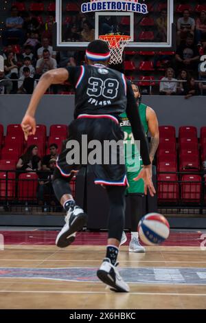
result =
[[[157,115],[155,111],[147,107],[146,109],[146,118],[148,120],[148,129],[151,134],[151,141],[150,141],[150,161],[152,163],[157,148],[159,146],[159,124],[157,120]]]

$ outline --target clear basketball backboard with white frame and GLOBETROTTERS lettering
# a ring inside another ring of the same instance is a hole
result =
[[[100,35],[131,37],[127,50],[173,50],[174,0],[56,0],[54,49],[83,50]]]

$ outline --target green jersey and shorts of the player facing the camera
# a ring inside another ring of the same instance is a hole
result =
[[[146,118],[146,104],[139,104],[139,116],[141,119],[141,124],[144,127],[144,131],[146,133],[146,137],[148,136],[148,121]],[[124,143],[125,143],[125,157],[126,157],[126,167],[128,170],[128,193],[144,193],[144,181],[140,179],[139,181],[133,181],[134,177],[139,175],[141,167],[143,166],[141,155],[137,149],[135,144],[135,140],[133,137],[133,131],[130,126],[130,122],[126,115],[126,112],[120,115],[121,121],[120,126],[122,131],[124,132]],[[135,161],[135,164],[134,164]]]

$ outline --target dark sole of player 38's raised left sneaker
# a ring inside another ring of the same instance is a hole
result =
[[[62,234],[59,233],[59,236],[56,238],[56,245],[60,248],[68,247],[71,245],[76,238],[76,232],[82,229],[84,225],[87,223],[87,214],[82,213],[77,216],[77,218],[73,221],[71,226],[68,230],[63,232]]]

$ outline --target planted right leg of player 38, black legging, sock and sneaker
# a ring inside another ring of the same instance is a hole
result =
[[[119,243],[124,229],[126,186],[106,186],[110,210],[108,216],[108,241],[106,257],[98,270],[98,278],[113,291],[128,292],[129,287],[117,271]]]

